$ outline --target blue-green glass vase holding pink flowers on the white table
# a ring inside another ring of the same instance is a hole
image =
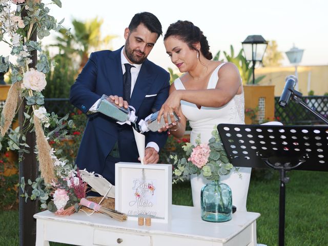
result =
[[[232,219],[231,189],[226,183],[214,180],[200,192],[201,219],[223,222]]]

